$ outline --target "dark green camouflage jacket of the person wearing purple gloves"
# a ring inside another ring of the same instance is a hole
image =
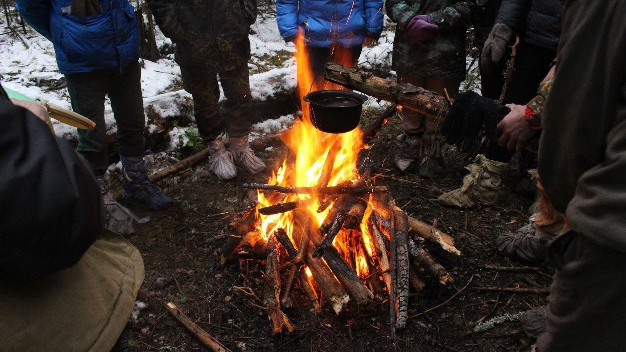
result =
[[[465,30],[475,0],[387,0],[387,16],[394,21],[392,68],[404,75],[465,78]],[[427,48],[407,43],[404,28],[416,14],[429,14],[439,32]]]

